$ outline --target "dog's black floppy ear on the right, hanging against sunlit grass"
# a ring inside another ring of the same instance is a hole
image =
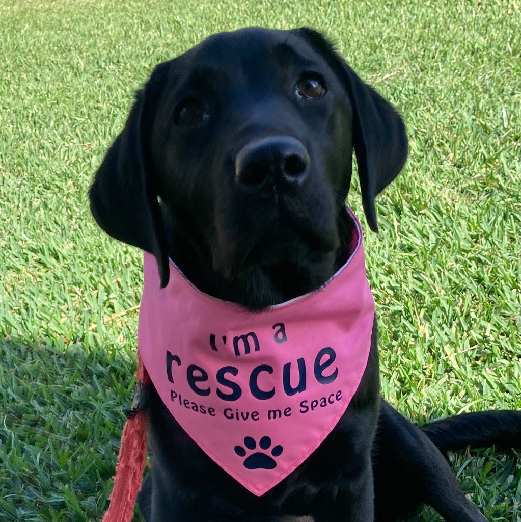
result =
[[[353,105],[353,147],[362,192],[362,204],[369,227],[378,232],[374,198],[402,170],[408,141],[402,118],[393,106],[362,81],[322,34],[308,28],[304,37],[340,74]]]

